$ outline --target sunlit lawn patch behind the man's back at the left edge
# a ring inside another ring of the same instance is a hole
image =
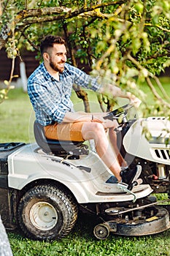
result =
[[[9,91],[0,105],[0,142],[29,141],[29,122],[33,114],[28,95],[22,89]]]

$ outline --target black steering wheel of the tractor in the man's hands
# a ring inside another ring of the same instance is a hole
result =
[[[130,108],[133,108],[133,105],[127,104],[120,108],[117,108],[116,110],[113,110],[107,114],[107,116],[104,116],[104,119],[109,119],[111,121],[120,118],[120,116],[123,114],[123,117],[127,116],[128,110]]]

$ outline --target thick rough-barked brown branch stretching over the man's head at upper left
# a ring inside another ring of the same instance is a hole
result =
[[[18,14],[12,20],[12,23],[15,26],[15,31],[21,31],[24,27],[34,23],[50,22],[53,20],[66,20],[82,14],[90,16],[96,15],[96,17],[98,18],[104,18],[104,15],[101,12],[93,13],[92,11],[95,11],[101,7],[109,7],[115,4],[123,4],[123,2],[124,1],[122,0],[111,1],[109,3],[96,4],[91,7],[84,6],[74,11],[72,11],[72,8],[67,7],[45,7],[39,9],[22,10],[18,12]],[[6,23],[0,31],[0,50],[4,47],[8,37],[10,37],[12,34],[10,31],[10,26],[10,22]]]

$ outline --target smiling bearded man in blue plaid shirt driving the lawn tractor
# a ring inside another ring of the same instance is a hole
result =
[[[96,151],[109,167],[118,182],[131,184],[141,173],[141,166],[128,170],[117,150],[114,129],[117,121],[104,120],[106,113],[74,112],[70,99],[72,86],[76,84],[103,93],[104,89],[95,78],[80,69],[66,64],[66,46],[61,37],[47,36],[40,50],[43,63],[28,78],[28,95],[38,121],[45,129],[45,136],[54,140],[94,140]],[[138,103],[133,94],[108,85],[112,97],[123,97]],[[109,129],[109,141],[105,130]],[[123,167],[123,168],[122,168]],[[123,169],[123,170],[122,170]]]

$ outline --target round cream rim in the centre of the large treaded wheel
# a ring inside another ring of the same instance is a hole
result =
[[[58,222],[58,213],[47,202],[38,202],[30,210],[31,223],[39,230],[51,230]]]

